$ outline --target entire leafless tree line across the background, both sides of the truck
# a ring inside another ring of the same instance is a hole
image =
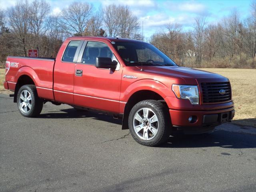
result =
[[[4,65],[8,55],[27,56],[31,48],[38,49],[40,57],[54,58],[68,36],[142,40],[140,22],[128,6],[110,4],[97,10],[88,2],[73,2],[51,14],[45,0],[20,0],[7,10],[0,9],[0,64]],[[193,30],[168,24],[148,42],[180,66],[255,68],[256,0],[244,20],[237,10],[215,24],[198,17]]]

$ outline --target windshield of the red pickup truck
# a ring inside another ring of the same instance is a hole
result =
[[[114,48],[126,66],[177,66],[168,56],[144,42],[115,42]]]

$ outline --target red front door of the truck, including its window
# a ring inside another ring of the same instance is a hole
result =
[[[74,104],[119,113],[122,68],[119,62],[114,71],[96,68],[97,57],[108,57],[118,62],[107,44],[84,43],[75,67]]]

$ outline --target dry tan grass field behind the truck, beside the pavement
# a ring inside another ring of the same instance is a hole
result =
[[[256,127],[256,69],[205,68],[201,70],[229,78],[236,109],[232,122],[242,126]],[[4,72],[4,69],[0,69],[0,92],[8,94],[9,92],[3,87]]]

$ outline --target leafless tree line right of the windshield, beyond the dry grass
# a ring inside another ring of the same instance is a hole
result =
[[[221,22],[210,24],[206,17],[195,18],[194,29],[169,24],[156,32],[150,43],[181,66],[198,68],[256,67],[256,1],[248,18],[242,20],[235,9]]]

